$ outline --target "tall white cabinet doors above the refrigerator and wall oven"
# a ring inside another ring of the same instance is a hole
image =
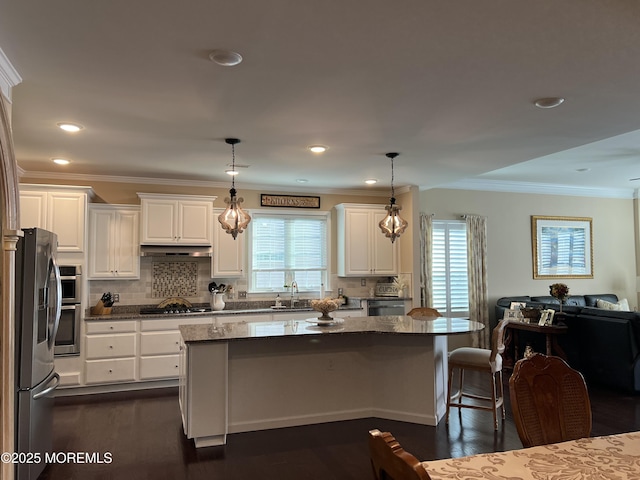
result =
[[[90,187],[20,185],[20,228],[58,236],[59,252],[84,252]]]

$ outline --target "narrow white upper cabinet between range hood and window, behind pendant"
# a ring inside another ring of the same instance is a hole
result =
[[[238,235],[234,240],[233,235],[225,232],[218,222],[218,215],[224,209],[216,208],[213,211],[213,255],[211,257],[212,277],[241,277],[244,274],[245,260],[245,236]]]

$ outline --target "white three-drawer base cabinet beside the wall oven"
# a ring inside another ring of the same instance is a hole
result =
[[[137,322],[89,321],[85,338],[85,381],[133,382],[136,379]]]

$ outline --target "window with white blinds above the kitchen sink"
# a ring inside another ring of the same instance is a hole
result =
[[[250,224],[249,291],[319,291],[327,278],[328,214],[256,212]]]

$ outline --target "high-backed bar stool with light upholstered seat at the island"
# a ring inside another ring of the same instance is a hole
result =
[[[502,387],[502,353],[504,352],[504,331],[509,320],[500,320],[491,334],[491,349],[461,347],[449,354],[449,392],[447,396],[447,412],[445,422],[449,423],[449,412],[454,408],[474,408],[493,412],[493,424],[498,429],[498,410],[502,420],[505,417],[504,391]],[[453,374],[459,371],[458,391],[453,392]],[[486,372],[491,378],[491,395],[478,395],[464,390],[465,370]],[[473,403],[465,403],[464,398],[473,399]]]

